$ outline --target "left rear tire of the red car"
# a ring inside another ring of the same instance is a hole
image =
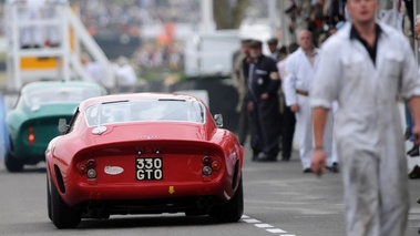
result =
[[[81,214],[78,209],[69,207],[61,198],[54,183],[50,179],[51,187],[51,213],[52,223],[58,228],[75,228],[81,220]]]

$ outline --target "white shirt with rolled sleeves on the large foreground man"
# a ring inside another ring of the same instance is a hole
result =
[[[362,43],[350,40],[351,24],[346,23],[322,45],[310,92],[311,106],[330,109],[332,101],[338,101],[337,141],[357,140],[355,144],[368,150],[379,144],[393,148],[399,143],[402,127],[397,98],[420,95],[417,62],[409,42],[399,31],[379,25],[376,65]],[[401,141],[401,152],[402,144]]]

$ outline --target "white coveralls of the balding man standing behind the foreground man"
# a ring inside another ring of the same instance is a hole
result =
[[[320,51],[317,50],[313,66],[300,48],[291,53],[286,61],[287,76],[283,84],[286,105],[299,105],[299,112],[296,113],[296,125],[298,127],[299,154],[304,170],[310,168],[310,157],[314,150],[311,124],[313,113],[309,104],[309,96],[298,94],[297,91],[310,93],[319,57]],[[324,145],[328,156],[327,165],[331,166],[334,162],[337,162],[337,155],[332,153],[332,114],[328,115],[328,122],[324,135]]]

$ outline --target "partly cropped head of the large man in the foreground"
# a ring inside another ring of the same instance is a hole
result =
[[[368,24],[375,22],[378,0],[348,0],[347,11],[354,23]]]

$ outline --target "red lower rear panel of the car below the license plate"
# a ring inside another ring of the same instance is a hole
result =
[[[171,204],[174,199],[191,198],[192,202],[211,197],[217,203],[227,202],[234,194],[231,181],[218,178],[212,182],[183,183],[136,183],[136,184],[100,184],[79,183],[66,186],[63,195],[70,206],[76,206],[92,201],[147,202],[160,199],[162,204]]]

